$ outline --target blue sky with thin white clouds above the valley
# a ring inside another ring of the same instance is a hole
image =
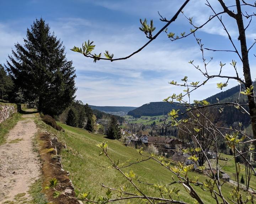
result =
[[[86,58],[70,49],[81,47],[84,41],[94,41],[95,53],[108,50],[116,57],[125,57],[142,47],[148,39],[139,30],[139,19],[153,19],[157,33],[165,22],[159,20],[159,13],[170,19],[185,0],[0,0],[0,63],[6,63],[15,43],[23,44],[27,28],[37,18],[43,18],[50,26],[51,32],[63,41],[66,57],[73,61],[76,69],[76,99],[96,106],[135,106],[145,103],[162,101],[164,98],[179,94],[184,87],[170,85],[174,80],[180,82],[184,77],[188,81],[204,81],[202,74],[188,62],[203,68],[202,52],[193,35],[187,38],[170,41],[166,34],[161,33],[142,51],[123,61],[97,61]],[[217,0],[209,0],[218,13],[222,11]],[[225,0],[232,6],[233,0]],[[254,1],[248,0],[252,4]],[[187,17],[193,17],[193,23],[201,26],[213,11],[205,5],[205,0],[191,0],[183,9]],[[4,9],[3,9],[4,8]],[[234,9],[235,7],[230,7]],[[243,7],[244,11],[255,12],[252,8]],[[222,20],[239,48],[238,30],[234,19],[222,15]],[[245,25],[250,19],[244,19]],[[192,26],[185,16],[180,14],[168,31],[180,34],[189,33]],[[247,46],[250,47],[256,39],[256,23],[252,19],[246,29]],[[202,39],[204,47],[216,50],[234,50],[222,24],[216,18],[196,32],[196,37]],[[255,79],[256,46],[249,52],[252,78]],[[241,78],[241,61],[234,52],[213,52],[204,50],[204,57],[209,61],[207,69],[210,74],[218,74],[219,63],[226,63],[223,75],[235,76],[235,70],[230,65],[237,61],[237,69]],[[191,94],[191,100],[203,100],[218,92],[216,83],[224,79],[211,79],[206,85]],[[229,89],[238,82],[229,81]]]

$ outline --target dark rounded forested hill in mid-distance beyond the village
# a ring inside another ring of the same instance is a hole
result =
[[[167,102],[150,102],[128,112],[128,115],[132,115],[135,118],[139,118],[142,115],[156,116],[165,115],[169,113],[172,109],[181,109],[176,104]]]

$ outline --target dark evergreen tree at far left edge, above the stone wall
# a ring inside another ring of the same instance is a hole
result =
[[[13,89],[14,83],[7,75],[4,67],[0,64],[0,99],[9,100],[9,94]]]

